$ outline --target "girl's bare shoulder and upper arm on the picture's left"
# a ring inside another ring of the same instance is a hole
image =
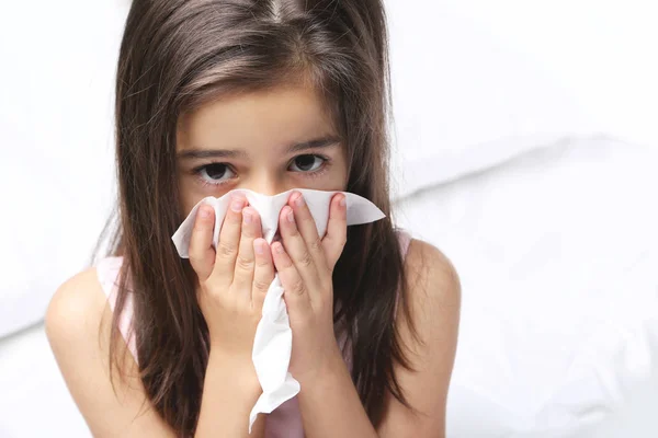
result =
[[[143,410],[144,402],[150,404],[122,338],[115,356],[120,367],[110,368],[112,321],[95,268],[68,279],[50,300],[46,334],[73,401],[93,436],[171,436],[155,410]]]

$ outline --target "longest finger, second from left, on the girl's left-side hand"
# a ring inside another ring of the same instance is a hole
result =
[[[222,223],[219,231],[219,242],[215,255],[215,268],[213,277],[224,285],[232,283],[232,275],[236,267],[236,257],[238,255],[238,244],[240,242],[240,229],[242,227],[242,208],[246,199],[236,196],[230,201],[230,206]]]

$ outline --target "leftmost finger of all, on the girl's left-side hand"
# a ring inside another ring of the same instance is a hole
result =
[[[205,281],[215,265],[215,250],[213,249],[213,229],[215,226],[215,210],[208,205],[201,205],[196,211],[194,229],[190,238],[190,264],[198,281]]]

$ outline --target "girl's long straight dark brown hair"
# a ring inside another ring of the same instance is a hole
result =
[[[177,123],[225,93],[300,78],[332,112],[348,151],[347,189],[387,215],[349,228],[333,274],[334,320],[351,341],[352,379],[375,426],[386,390],[408,405],[393,368],[409,368],[394,324],[398,290],[407,316],[409,306],[389,220],[387,50],[382,0],[133,1],[116,79],[118,221],[110,249],[124,256],[129,284],[122,275],[110,367],[120,362],[116,327],[129,286],[140,378],[177,434],[195,430],[208,359],[194,273],[170,239],[183,219],[172,177]]]

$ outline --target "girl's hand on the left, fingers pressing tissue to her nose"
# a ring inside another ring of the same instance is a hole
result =
[[[213,249],[215,211],[202,205],[190,242],[190,263],[198,277],[197,300],[208,326],[211,353],[252,369],[251,350],[265,292],[274,279],[270,245],[260,217],[237,195]]]

